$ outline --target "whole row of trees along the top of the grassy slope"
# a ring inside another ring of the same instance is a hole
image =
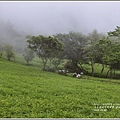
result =
[[[69,32],[65,34],[56,34],[53,36],[26,36],[28,46],[24,49],[23,57],[27,64],[35,55],[41,58],[43,70],[47,69],[47,63],[50,61],[55,69],[66,60],[64,69],[70,72],[81,71],[85,74],[94,76],[95,64],[101,64],[102,76],[105,66],[109,68],[106,77],[113,78],[116,70],[120,70],[120,27],[117,26],[115,31],[108,32],[108,35],[98,33],[93,30],[89,35],[83,35],[79,32]],[[0,51],[6,52],[8,60],[14,57],[12,47],[5,45]],[[91,66],[89,73],[84,65]]]

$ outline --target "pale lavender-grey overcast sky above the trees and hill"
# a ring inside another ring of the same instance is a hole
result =
[[[26,33],[107,33],[120,26],[120,2],[0,2],[0,20]]]

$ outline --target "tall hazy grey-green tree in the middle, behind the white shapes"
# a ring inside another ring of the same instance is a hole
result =
[[[79,32],[56,34],[54,36],[64,43],[64,52],[62,57],[71,61],[73,72],[86,72],[81,66],[84,54],[83,48],[87,44],[86,36]]]

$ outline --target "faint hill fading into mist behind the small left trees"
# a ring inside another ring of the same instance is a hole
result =
[[[0,21],[0,44],[10,43],[17,51],[21,51],[25,42],[25,33],[18,32],[11,22]]]

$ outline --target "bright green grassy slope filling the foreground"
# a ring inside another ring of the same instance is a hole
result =
[[[0,117],[119,118],[119,83],[76,79],[0,59]]]

